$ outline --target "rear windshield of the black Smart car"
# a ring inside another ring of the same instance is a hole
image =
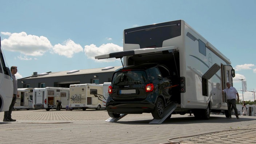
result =
[[[113,76],[113,85],[144,84],[147,81],[145,71],[123,71],[116,72]]]

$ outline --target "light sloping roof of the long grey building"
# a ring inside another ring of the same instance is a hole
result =
[[[114,72],[117,69],[122,68],[122,66],[115,67],[105,67],[105,68],[93,68],[93,69],[80,69],[80,70],[71,70],[71,71],[62,71],[62,72],[45,72],[36,74],[33,73],[32,76],[24,77],[21,79],[38,79],[38,78],[47,78],[47,77],[58,77],[58,76],[70,76],[70,75],[83,75],[83,74],[94,74],[94,73],[103,73],[103,72]]]

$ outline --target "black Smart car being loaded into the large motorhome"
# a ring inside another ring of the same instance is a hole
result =
[[[164,109],[178,91],[179,81],[174,72],[162,64],[139,64],[119,69],[113,73],[106,103],[108,115],[121,113],[152,113],[161,119]]]

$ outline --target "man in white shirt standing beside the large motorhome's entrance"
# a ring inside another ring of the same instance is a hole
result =
[[[227,96],[228,115],[229,115],[227,118],[228,119],[231,118],[231,106],[232,106],[232,108],[236,113],[236,118],[239,119],[237,108],[236,108],[236,96],[237,96],[237,101],[240,101],[240,100],[239,100],[239,95],[236,88],[231,87],[231,84],[227,82],[227,88],[225,88],[223,92],[225,92]]]

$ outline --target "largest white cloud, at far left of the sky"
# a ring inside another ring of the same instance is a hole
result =
[[[3,49],[7,51],[20,52],[28,56],[41,56],[52,48],[50,41],[44,36],[27,35],[25,32],[1,33],[9,36],[8,39],[1,41]]]

